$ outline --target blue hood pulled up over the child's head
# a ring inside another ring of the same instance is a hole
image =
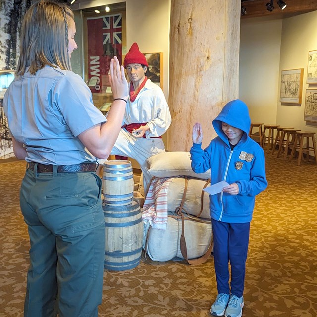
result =
[[[212,121],[212,125],[217,132],[218,136],[227,144],[229,144],[227,136],[224,134],[221,128],[221,123],[224,122],[235,128],[238,128],[245,132],[242,139],[247,139],[251,119],[249,116],[248,106],[239,99],[232,100],[227,103],[218,114],[218,116]]]

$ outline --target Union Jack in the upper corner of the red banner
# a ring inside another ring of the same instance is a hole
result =
[[[103,45],[122,43],[122,15],[113,14],[103,17]]]

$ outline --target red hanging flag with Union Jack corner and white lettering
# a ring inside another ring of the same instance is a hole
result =
[[[88,86],[92,93],[102,93],[109,85],[110,60],[122,56],[122,14],[87,18]]]

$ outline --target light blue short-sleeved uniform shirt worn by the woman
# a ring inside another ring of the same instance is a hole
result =
[[[26,161],[96,161],[77,136],[106,118],[94,106],[86,83],[72,71],[45,66],[35,75],[17,76],[4,95],[3,107],[10,133],[26,146]]]

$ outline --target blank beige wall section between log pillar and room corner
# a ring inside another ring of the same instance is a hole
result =
[[[239,98],[248,106],[251,120],[276,123],[276,98],[282,19],[241,20]]]

